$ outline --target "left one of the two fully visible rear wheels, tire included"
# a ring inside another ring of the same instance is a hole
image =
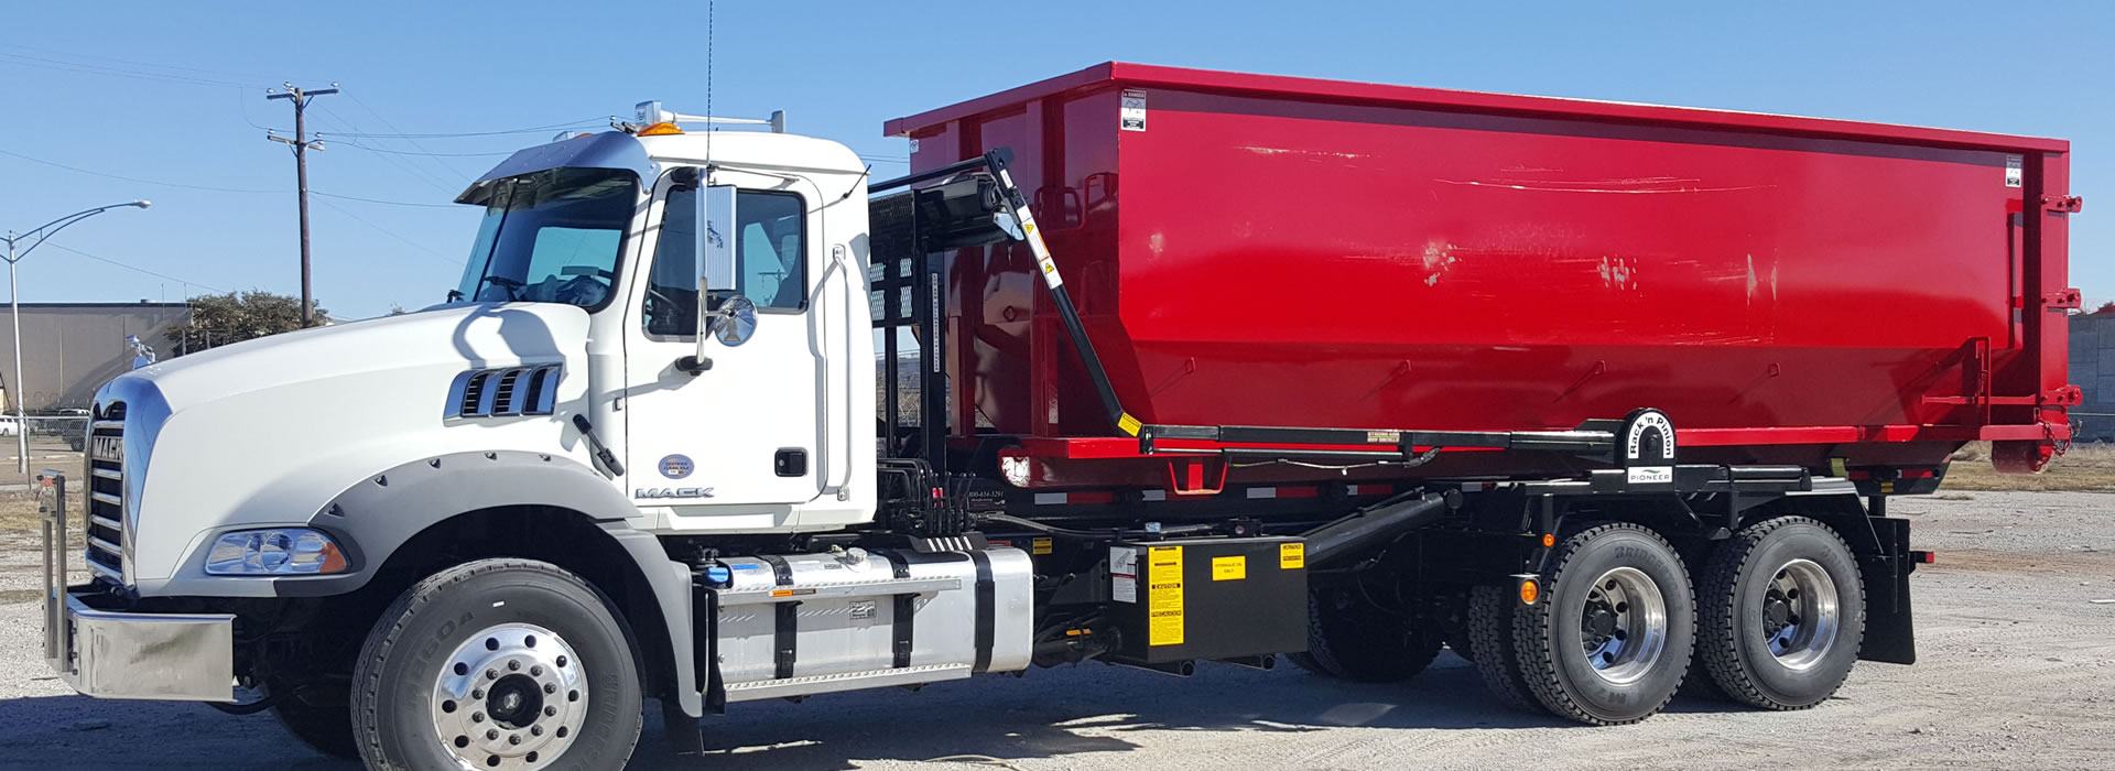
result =
[[[1565,539],[1555,564],[1542,602],[1512,619],[1529,691],[1550,712],[1590,725],[1660,712],[1696,638],[1681,556],[1656,532],[1614,522]]]

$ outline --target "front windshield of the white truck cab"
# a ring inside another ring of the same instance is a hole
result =
[[[639,182],[620,169],[550,169],[497,180],[450,298],[601,308],[618,281]]]

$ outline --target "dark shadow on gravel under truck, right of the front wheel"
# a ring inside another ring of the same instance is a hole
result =
[[[704,722],[709,752],[696,767],[833,771],[857,767],[854,758],[1053,758],[1127,752],[1138,748],[1127,735],[1146,731],[1580,727],[1497,706],[1476,670],[1453,655],[1398,684],[1324,680],[1292,665],[1277,672],[1208,665],[1182,680],[1100,663],[992,680],[734,706]],[[1732,710],[1696,699],[1677,699],[1673,708]],[[666,756],[664,748],[643,744],[632,767],[662,767]]]

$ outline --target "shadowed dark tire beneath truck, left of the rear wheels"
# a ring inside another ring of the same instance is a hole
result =
[[[1351,587],[1316,587],[1307,596],[1307,653],[1290,659],[1339,680],[1409,680],[1432,665],[1445,644],[1438,629],[1419,621],[1375,606]]]

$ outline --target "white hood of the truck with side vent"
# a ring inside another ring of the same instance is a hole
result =
[[[214,526],[307,522],[374,473],[448,452],[586,448],[563,418],[584,406],[588,313],[470,304],[302,330],[176,357],[118,376],[125,401],[131,579],[165,581]],[[453,418],[467,370],[560,363],[556,412]]]

